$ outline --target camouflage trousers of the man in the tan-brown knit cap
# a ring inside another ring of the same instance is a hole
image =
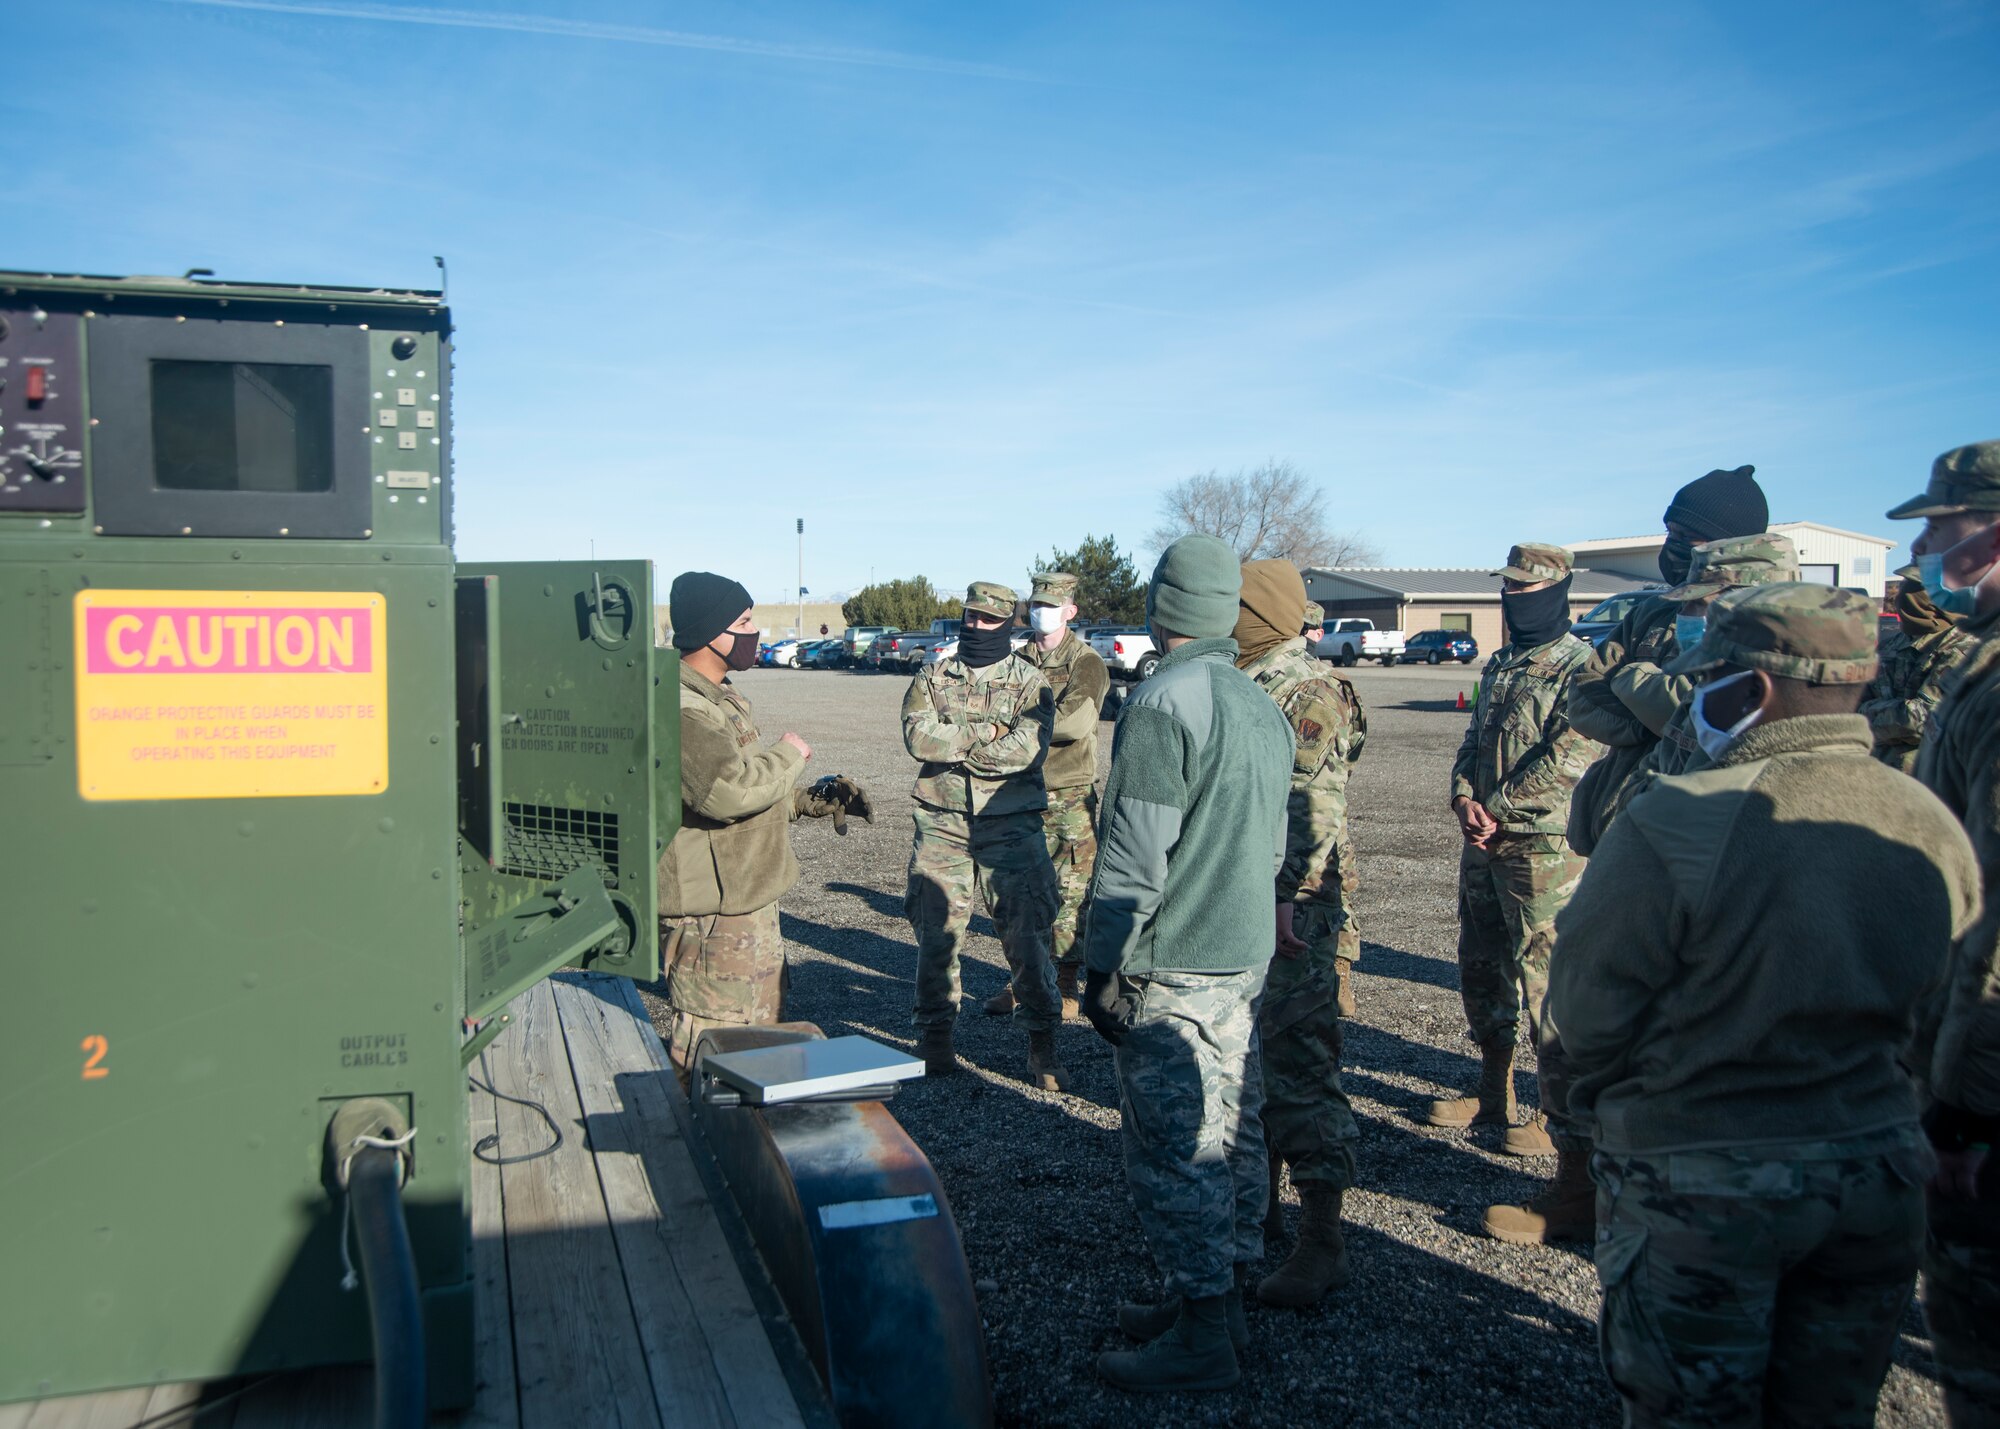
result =
[[[1292,1167],[1294,1183],[1346,1189],[1354,1185],[1354,1145],[1362,1133],[1340,1087],[1338,925],[1338,907],[1296,909],[1292,931],[1306,951],[1270,961],[1256,1027],[1270,1157]]]

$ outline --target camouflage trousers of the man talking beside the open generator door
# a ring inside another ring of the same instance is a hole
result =
[[[754,913],[660,919],[660,967],[674,1009],[666,1055],[682,1077],[710,1027],[776,1023],[784,1003],[784,937],[778,905]]]

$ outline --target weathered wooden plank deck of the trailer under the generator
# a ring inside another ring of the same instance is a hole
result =
[[[564,1141],[534,1161],[472,1163],[478,1399],[432,1423],[822,1423],[792,1393],[810,1369],[790,1363],[788,1377],[772,1349],[686,1143],[686,1097],[632,983],[562,973],[508,1013],[514,1027],[486,1051],[490,1085],[548,1107]],[[496,1131],[506,1157],[550,1139],[534,1111],[474,1091],[472,1143]],[[164,1417],[158,1429],[368,1425],[372,1373],[362,1365],[0,1405],[0,1429],[130,1429],[154,1417]]]

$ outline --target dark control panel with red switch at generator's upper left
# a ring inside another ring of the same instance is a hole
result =
[[[82,508],[82,316],[0,306],[0,510]]]

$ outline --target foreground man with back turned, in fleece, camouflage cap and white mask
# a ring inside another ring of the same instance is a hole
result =
[[[1830,586],[1718,600],[1664,672],[1732,733],[1618,815],[1558,921],[1632,1425],[1874,1423],[1932,1165],[1898,1055],[1978,909],[1948,811],[1868,759],[1874,624]]]

